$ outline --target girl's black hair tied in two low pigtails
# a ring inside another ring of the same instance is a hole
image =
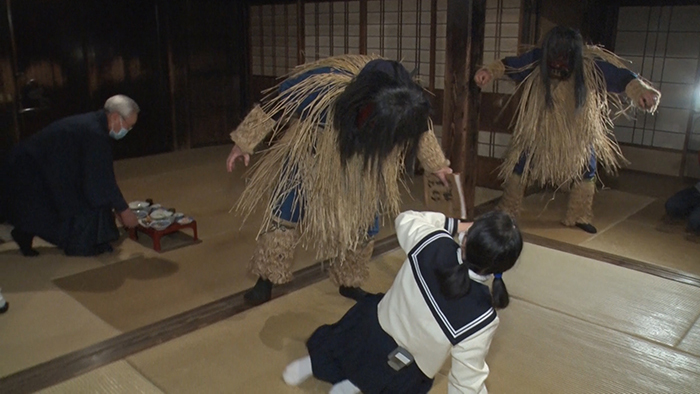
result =
[[[462,247],[462,264],[436,270],[440,290],[448,299],[469,293],[472,281],[469,278],[470,269],[479,275],[500,274],[511,269],[520,257],[523,238],[515,220],[509,214],[496,210],[474,221]],[[494,278],[491,298],[495,308],[508,306],[508,290],[503,279]]]

